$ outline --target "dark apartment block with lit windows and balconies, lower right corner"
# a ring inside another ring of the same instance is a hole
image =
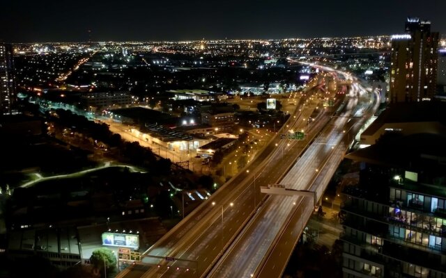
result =
[[[443,144],[441,136],[424,139]],[[360,184],[344,189],[340,214],[344,277],[446,277],[445,152],[420,151],[422,142],[410,151],[414,140],[358,159],[368,162],[362,162]],[[382,161],[384,154],[393,157]]]

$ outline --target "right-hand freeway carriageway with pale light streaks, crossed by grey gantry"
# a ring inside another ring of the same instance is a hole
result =
[[[352,90],[363,89],[354,86]],[[281,184],[316,191],[320,198],[353,138],[351,134],[360,128],[362,118],[349,120],[350,116],[364,104],[370,106],[367,95],[361,104],[350,98],[345,112],[333,117]],[[313,208],[313,198],[271,195],[209,277],[281,277]]]

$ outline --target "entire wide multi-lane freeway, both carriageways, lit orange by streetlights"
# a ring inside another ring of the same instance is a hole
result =
[[[363,94],[360,85],[351,86],[351,90],[357,90],[352,92],[355,96],[371,95]],[[118,277],[280,276],[314,201],[268,196],[259,188],[282,183],[316,191],[320,197],[349,136],[360,127],[356,121],[363,117],[351,120],[350,116],[360,103],[371,106],[370,97],[348,97],[345,112],[331,117],[319,98],[310,97],[316,95],[314,91],[316,88],[307,90],[307,97],[302,97],[288,125],[280,131],[304,130],[304,141],[275,136],[243,172],[150,247],[141,263]],[[318,116],[309,124],[308,117],[315,110]]]

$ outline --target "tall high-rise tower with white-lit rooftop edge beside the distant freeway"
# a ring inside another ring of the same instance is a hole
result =
[[[406,33],[392,35],[390,102],[430,101],[436,92],[438,32],[409,17]]]

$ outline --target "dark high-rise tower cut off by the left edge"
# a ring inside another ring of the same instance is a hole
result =
[[[0,112],[11,113],[15,102],[14,50],[0,42]]]

